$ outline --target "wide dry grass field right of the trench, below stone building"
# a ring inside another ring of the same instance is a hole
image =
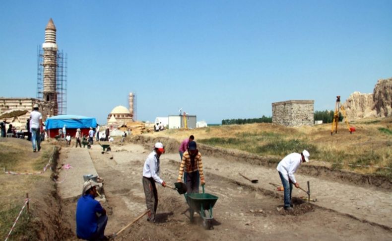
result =
[[[392,167],[392,118],[363,120],[350,125],[356,128],[356,132],[350,134],[345,123],[339,123],[337,134],[332,136],[331,124],[290,128],[266,123],[166,130],[147,135],[168,136],[178,141],[194,135],[196,142],[258,155],[274,155],[278,159],[307,149],[312,161],[327,162],[335,168],[360,173],[392,176],[390,169],[352,166]]]

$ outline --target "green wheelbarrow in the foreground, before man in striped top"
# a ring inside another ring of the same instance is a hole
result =
[[[214,207],[217,196],[209,193],[204,193],[204,185],[202,185],[203,193],[186,193],[185,199],[190,209],[191,222],[194,220],[194,211],[198,211],[200,217],[203,219],[203,227],[207,230],[213,229],[212,227],[212,208]]]

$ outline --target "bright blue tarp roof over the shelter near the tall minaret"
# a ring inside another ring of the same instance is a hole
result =
[[[95,128],[97,126],[97,120],[93,117],[85,117],[80,115],[57,115],[52,116],[45,121],[45,127],[49,129],[63,128]]]

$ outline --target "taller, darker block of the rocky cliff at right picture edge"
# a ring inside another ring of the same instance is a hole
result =
[[[373,101],[378,117],[392,116],[392,78],[377,81]]]

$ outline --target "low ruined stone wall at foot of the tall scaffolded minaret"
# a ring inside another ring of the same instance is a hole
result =
[[[16,113],[16,111],[27,110],[25,114],[20,116],[13,116],[5,118],[8,123],[19,122],[26,124],[27,119],[30,117],[30,112],[33,110],[33,105],[37,103],[39,111],[42,114],[42,121],[54,115],[57,103],[55,101],[42,101],[35,98],[0,98],[0,116],[6,113]]]

